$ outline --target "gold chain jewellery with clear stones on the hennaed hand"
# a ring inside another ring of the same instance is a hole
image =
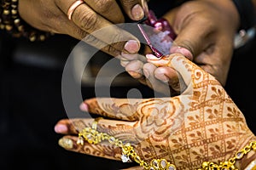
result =
[[[101,119],[98,118],[92,122],[92,127],[85,127],[81,132],[79,132],[79,139],[77,144],[84,144],[84,139],[90,144],[98,144],[103,140],[107,140],[110,144],[114,144],[121,148],[122,156],[121,160],[123,162],[129,162],[131,159],[136,161],[141,167],[146,170],[176,170],[174,164],[166,161],[166,159],[153,159],[148,164],[146,161],[143,161],[140,156],[137,155],[136,151],[133,149],[130,143],[124,144],[123,141],[114,138],[108,133],[100,133],[96,130],[97,121]],[[229,161],[224,161],[220,163],[215,163],[211,161],[204,161],[201,165],[201,168],[196,170],[238,170],[235,166],[236,161],[241,160],[241,158],[247,155],[251,150],[256,151],[256,141],[251,142],[245,146],[240,151],[237,151],[233,158],[230,158]],[[252,165],[252,167],[255,164]],[[253,168],[252,168],[253,169]]]

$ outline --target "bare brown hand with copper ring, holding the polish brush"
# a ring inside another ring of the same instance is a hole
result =
[[[19,14],[29,25],[39,30],[67,34],[79,40],[103,27],[112,26],[108,30],[108,34],[104,34],[104,36],[97,36],[97,34],[94,34],[95,37],[91,36],[90,43],[96,47],[99,44],[106,46],[102,51],[113,56],[120,54],[124,47],[129,53],[136,53],[139,50],[140,47],[136,37],[113,26],[113,24],[125,21],[124,14],[122,14],[121,8],[116,1],[84,0],[84,3],[74,10],[72,20],[68,20],[67,10],[74,2],[75,0],[23,0],[19,2]],[[138,2],[137,0],[120,1],[122,8],[131,20],[143,19],[143,8]],[[136,40],[137,42],[131,41],[125,45],[125,42],[119,41],[124,38]],[[108,45],[107,42],[119,43]]]

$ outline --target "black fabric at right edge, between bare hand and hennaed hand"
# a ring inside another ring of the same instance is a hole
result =
[[[256,38],[235,50],[225,89],[244,114],[247,125],[256,134]]]

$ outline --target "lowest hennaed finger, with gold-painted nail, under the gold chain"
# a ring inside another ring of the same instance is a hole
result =
[[[89,144],[84,142],[82,145],[77,144],[78,139],[77,136],[67,135],[59,139],[58,144],[65,150],[121,161],[121,149],[114,144],[109,144],[108,142]]]

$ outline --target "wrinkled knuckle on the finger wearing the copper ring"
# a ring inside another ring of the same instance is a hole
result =
[[[79,23],[83,30],[94,31],[97,24],[97,14],[93,11],[84,12],[79,17]]]

